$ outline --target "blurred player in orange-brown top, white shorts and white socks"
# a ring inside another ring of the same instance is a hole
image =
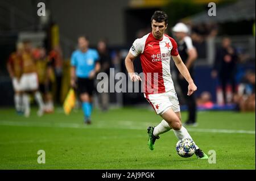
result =
[[[24,115],[30,116],[30,96],[34,94],[35,100],[38,103],[39,110],[38,116],[42,116],[44,113],[44,103],[42,96],[39,92],[38,74],[36,72],[36,64],[34,57],[32,56],[30,41],[24,41],[24,52],[22,54],[22,77],[20,78],[20,85],[22,87]]]

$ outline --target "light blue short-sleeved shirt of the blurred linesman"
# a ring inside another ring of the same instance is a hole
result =
[[[85,53],[81,52],[81,50],[76,50],[71,57],[71,66],[76,67],[77,77],[88,78],[90,71],[95,68],[98,60],[98,52],[95,49],[88,49]]]

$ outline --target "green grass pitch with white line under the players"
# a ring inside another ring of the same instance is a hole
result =
[[[183,121],[187,117],[182,112]],[[199,112],[198,127],[187,127],[205,153],[216,151],[216,163],[177,155],[173,131],[160,135],[155,150],[147,147],[149,125],[161,119],[152,110],[127,107],[94,110],[84,125],[81,110],[31,117],[0,110],[0,169],[255,169],[255,113]],[[38,150],[46,163],[37,162]]]

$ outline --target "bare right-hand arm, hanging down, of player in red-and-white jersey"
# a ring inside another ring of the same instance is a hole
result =
[[[183,77],[188,82],[188,96],[192,95],[193,92],[195,92],[197,90],[197,87],[196,87],[193,79],[191,78],[191,75],[189,74],[187,67],[181,60],[179,54],[177,56],[172,56],[172,58],[174,59],[177,69],[180,71],[181,75],[183,75]]]

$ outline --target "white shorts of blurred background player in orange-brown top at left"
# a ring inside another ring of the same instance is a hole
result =
[[[23,91],[34,91],[38,89],[38,74],[27,73],[20,78],[20,85]]]

